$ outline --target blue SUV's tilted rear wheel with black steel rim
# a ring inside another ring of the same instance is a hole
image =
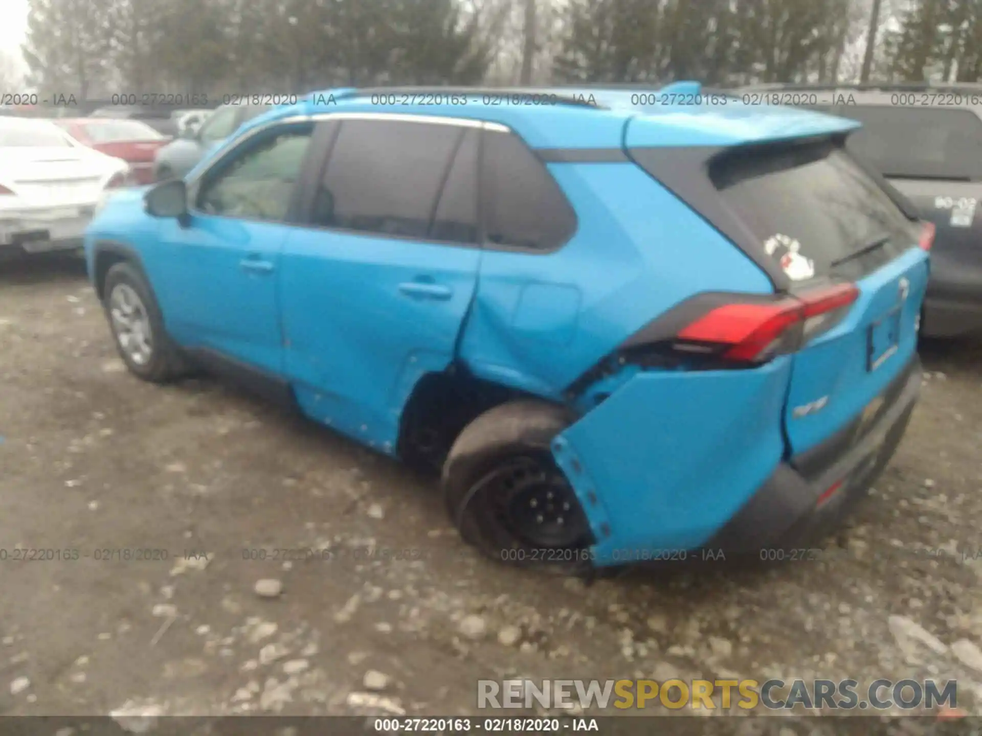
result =
[[[464,428],[444,464],[443,488],[465,542],[517,566],[590,568],[589,523],[551,450],[572,418],[562,407],[522,399]]]

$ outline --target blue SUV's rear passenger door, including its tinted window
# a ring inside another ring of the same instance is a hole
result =
[[[304,410],[394,452],[421,376],[454,358],[480,263],[479,125],[346,117],[283,253],[287,371]]]

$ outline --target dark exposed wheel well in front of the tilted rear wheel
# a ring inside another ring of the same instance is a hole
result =
[[[399,429],[399,456],[423,471],[440,472],[450,447],[472,420],[516,398],[538,398],[483,381],[463,366],[428,373],[407,401]]]

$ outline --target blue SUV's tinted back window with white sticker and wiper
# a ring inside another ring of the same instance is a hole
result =
[[[832,143],[744,151],[710,174],[792,281],[859,278],[910,247],[910,221]]]

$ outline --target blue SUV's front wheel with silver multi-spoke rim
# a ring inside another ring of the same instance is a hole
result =
[[[103,282],[103,306],[120,357],[138,378],[155,384],[180,378],[187,365],[164,329],[153,290],[136,267],[117,263]]]

